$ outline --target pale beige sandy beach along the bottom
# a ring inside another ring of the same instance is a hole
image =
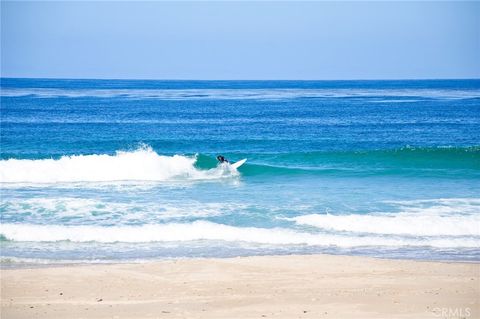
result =
[[[480,264],[347,256],[1,271],[1,318],[480,318]]]

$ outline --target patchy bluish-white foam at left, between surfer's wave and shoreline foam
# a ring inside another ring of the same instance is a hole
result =
[[[92,198],[11,198],[4,199],[0,211],[4,221],[16,220],[22,215],[22,223],[52,223],[59,220],[102,225],[125,223],[155,223],[185,218],[207,218],[244,209],[243,204],[201,203],[194,200],[159,200],[121,202]]]

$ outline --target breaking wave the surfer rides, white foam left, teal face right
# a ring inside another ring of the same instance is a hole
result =
[[[426,175],[474,178],[480,173],[480,149],[413,148],[365,151],[318,151],[280,154],[227,154],[249,158],[244,176],[269,175]],[[211,155],[166,156],[150,146],[116,154],[62,156],[59,159],[0,160],[2,183],[75,183],[117,181],[195,181],[238,176],[217,166]]]

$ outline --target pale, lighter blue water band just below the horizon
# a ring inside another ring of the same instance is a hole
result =
[[[475,99],[476,89],[369,89],[369,88],[254,88],[254,89],[74,89],[4,88],[2,97],[28,98],[129,98],[160,100],[280,100],[295,98],[402,98]],[[407,100],[408,101],[408,100]]]

